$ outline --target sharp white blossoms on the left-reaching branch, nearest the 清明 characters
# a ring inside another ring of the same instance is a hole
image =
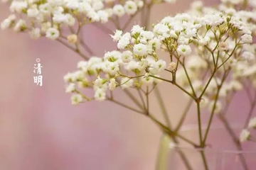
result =
[[[104,101],[107,89],[113,91],[118,86],[122,89],[138,88],[143,84],[150,86],[161,81],[157,77],[166,69],[166,62],[156,56],[161,42],[154,33],[133,26],[131,33],[122,34],[122,31],[117,30],[112,38],[117,41],[117,47],[122,52],[114,50],[106,52],[103,58],[91,57],[88,61],[79,62],[79,70],[64,78],[70,83],[66,92],[80,94],[75,89],[77,84],[80,88],[94,89],[95,95],[90,99]]]

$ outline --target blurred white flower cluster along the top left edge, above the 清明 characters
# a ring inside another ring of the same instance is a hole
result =
[[[14,28],[28,32],[31,38],[46,36],[56,40],[61,28],[88,23],[113,21],[132,16],[144,6],[142,0],[2,0],[10,4],[11,15],[1,23],[1,29]],[[169,1],[157,1],[157,3]],[[170,1],[173,2],[173,1]]]

